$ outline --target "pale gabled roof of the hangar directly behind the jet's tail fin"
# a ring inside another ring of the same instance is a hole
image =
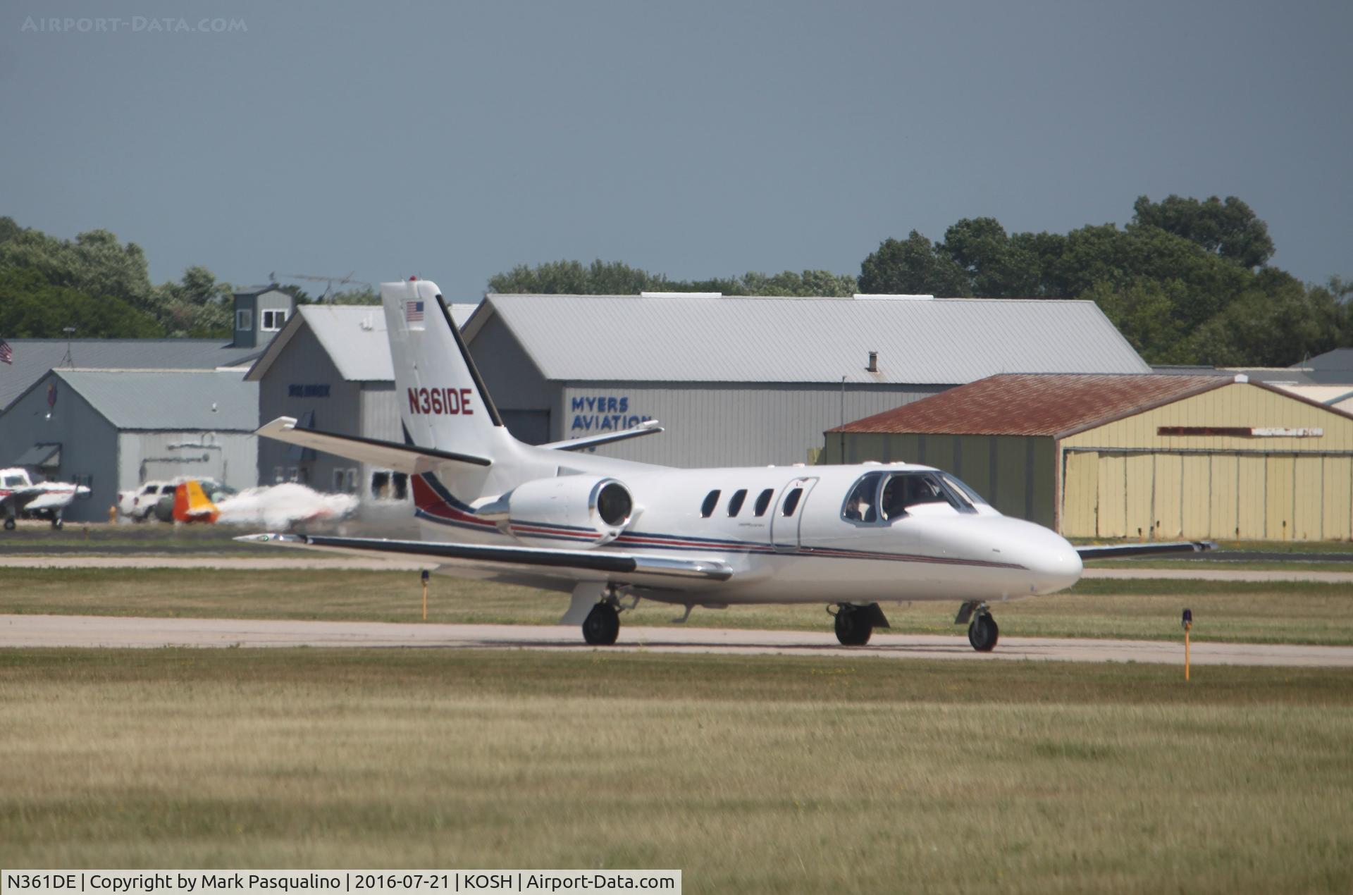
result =
[[[478,305],[448,305],[451,318],[464,326]],[[299,320],[298,320],[299,318]],[[380,305],[302,305],[249,371],[257,382],[287,347],[300,325],[310,328],[348,382],[392,382],[395,368],[386,337],[386,313]]]

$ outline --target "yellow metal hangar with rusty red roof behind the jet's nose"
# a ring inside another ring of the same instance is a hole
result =
[[[827,433],[1068,538],[1353,536],[1353,416],[1243,375],[997,375]]]

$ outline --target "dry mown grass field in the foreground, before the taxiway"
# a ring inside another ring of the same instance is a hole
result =
[[[1353,888],[1353,676],[0,654],[0,865],[675,867],[687,892]]]

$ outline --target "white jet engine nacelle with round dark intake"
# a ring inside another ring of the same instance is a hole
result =
[[[503,496],[511,532],[518,538],[549,536],[551,527],[595,532],[594,544],[620,536],[635,515],[635,498],[613,478],[561,475],[518,485]],[[563,532],[560,532],[563,533]]]

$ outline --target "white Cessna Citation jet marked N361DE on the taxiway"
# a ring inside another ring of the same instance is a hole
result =
[[[1204,543],[1082,547],[1009,519],[948,473],[912,463],[671,468],[579,450],[649,436],[647,424],[529,445],[503,427],[437,286],[380,287],[405,443],[302,429],[258,435],[407,473],[423,540],[248,535],[288,547],[386,554],[438,573],[572,593],[561,623],[591,645],[639,600],[685,608],[824,603],[836,638],[888,627],[879,603],[951,600],[980,651],[989,604],[1069,588],[1088,556],[1204,550]]]

